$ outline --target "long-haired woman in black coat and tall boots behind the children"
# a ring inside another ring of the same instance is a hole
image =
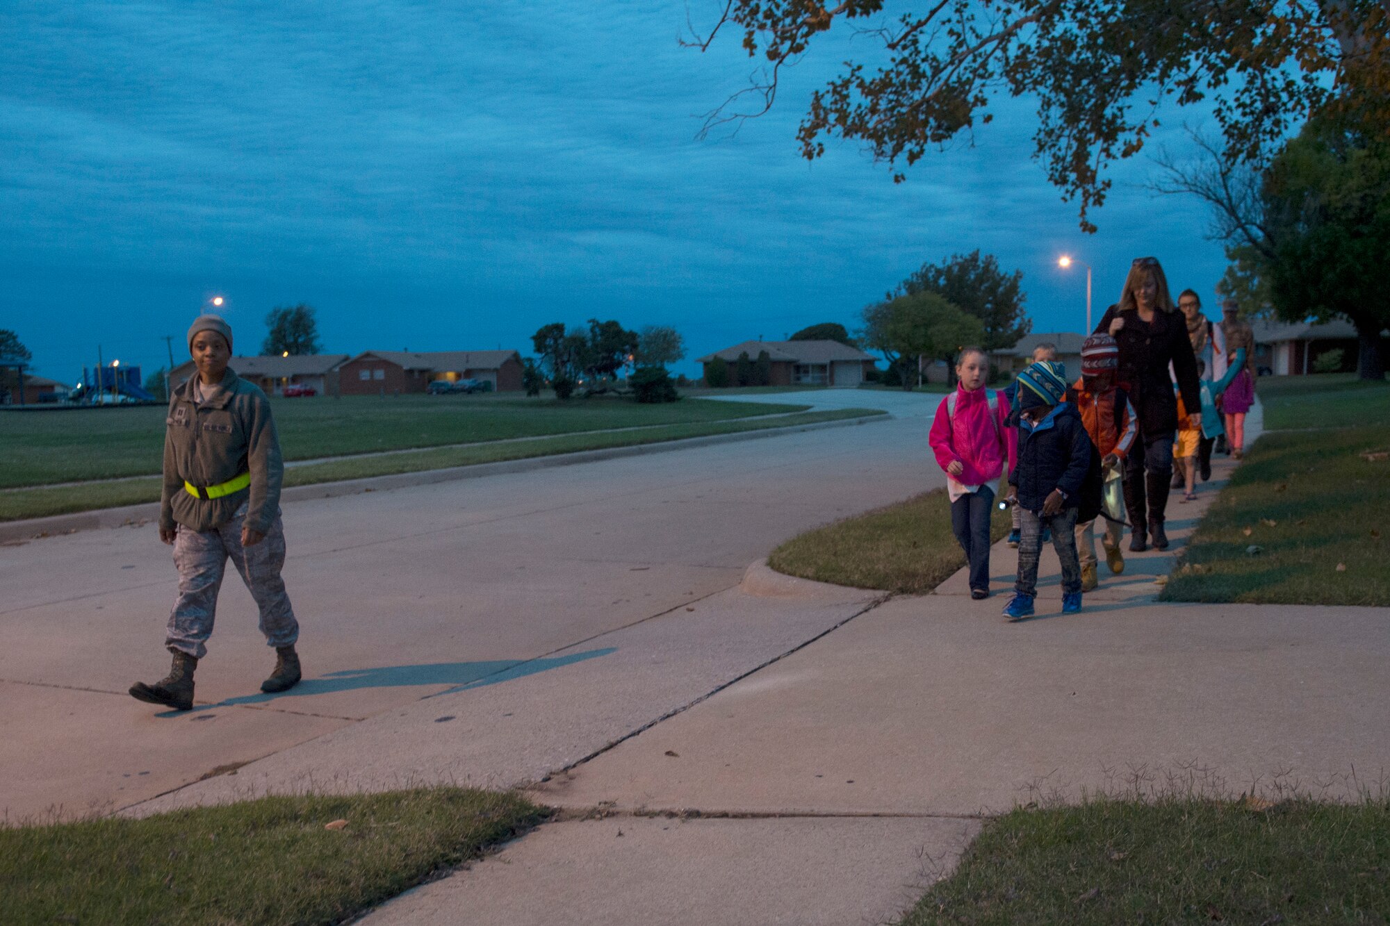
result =
[[[1101,332],[1119,343],[1119,381],[1138,416],[1138,439],[1125,460],[1130,549],[1143,552],[1147,548],[1145,527],[1154,548],[1168,549],[1163,509],[1173,476],[1177,431],[1177,398],[1169,364],[1183,393],[1183,406],[1195,410],[1190,419],[1201,420],[1202,403],[1187,324],[1173,306],[1168,277],[1156,257],[1140,257],[1130,266],[1119,303],[1111,306],[1095,325],[1095,334]]]

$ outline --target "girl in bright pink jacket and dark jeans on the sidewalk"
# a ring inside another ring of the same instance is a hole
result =
[[[994,487],[1013,469],[1017,432],[1006,424],[1009,400],[988,389],[990,357],[980,348],[956,356],[956,391],[941,400],[929,442],[947,473],[951,530],[970,562],[970,596],[990,596],[990,519]],[[1008,464],[1008,469],[1005,469]]]

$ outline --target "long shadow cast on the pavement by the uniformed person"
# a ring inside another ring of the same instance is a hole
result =
[[[452,685],[435,694],[453,694],[468,688],[495,685],[500,681],[510,681],[524,676],[534,676],[539,672],[559,669],[575,662],[596,659],[617,652],[617,647],[603,649],[587,649],[584,652],[569,653],[542,659],[496,659],[486,662],[434,662],[414,666],[378,666],[375,669],[343,669],[329,672],[320,679],[306,679],[289,691],[278,694],[254,694],[239,698],[227,698],[210,705],[197,705],[193,712],[211,710],[213,708],[231,708],[236,705],[257,705],[278,701],[281,698],[300,698],[304,695],[334,694],[338,691],[357,691],[360,688],[406,688],[411,685]],[[430,695],[435,697],[435,695]],[[188,710],[167,710],[158,717],[186,716]]]

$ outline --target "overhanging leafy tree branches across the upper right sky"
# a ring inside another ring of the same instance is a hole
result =
[[[781,70],[837,21],[877,17],[884,0],[728,0],[687,42],[708,49],[727,25],[764,64],[713,110],[705,132],[762,115]],[[796,132],[801,153],[856,139],[876,160],[912,165],[970,139],[999,95],[1036,99],[1036,157],[1087,231],[1105,202],[1105,168],[1133,157],[1163,99],[1211,107],[1233,160],[1255,160],[1311,113],[1334,107],[1390,122],[1390,0],[934,0],[860,32],[881,42],[866,68],[847,61],[816,90]],[[881,61],[881,63],[880,63]],[[746,107],[745,100],[753,106]]]

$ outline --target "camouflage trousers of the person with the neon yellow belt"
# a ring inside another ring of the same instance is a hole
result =
[[[178,566],[178,601],[170,615],[164,645],[202,659],[207,638],[213,635],[217,616],[217,592],[222,587],[227,560],[240,573],[242,581],[260,608],[260,631],[271,647],[289,647],[299,640],[299,622],[289,606],[279,570],[285,564],[285,528],[279,513],[253,546],[242,546],[243,503],[232,520],[210,531],[195,531],[179,524],[174,539],[174,564]]]

